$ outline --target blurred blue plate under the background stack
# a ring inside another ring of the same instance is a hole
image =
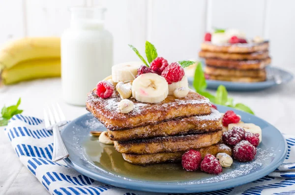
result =
[[[277,67],[267,68],[267,80],[264,82],[256,83],[238,83],[238,82],[228,82],[228,81],[217,81],[217,80],[207,80],[208,89],[217,89],[217,87],[223,84],[228,91],[256,91],[263,90],[271,86],[276,86],[279,84],[286,84],[292,81],[293,75],[285,70]],[[188,78],[188,82],[192,84],[193,78]]]

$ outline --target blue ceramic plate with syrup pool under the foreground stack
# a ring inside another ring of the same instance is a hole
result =
[[[218,106],[225,112],[228,107]],[[223,168],[219,175],[201,171],[187,172],[180,164],[146,167],[131,165],[122,159],[113,145],[98,142],[90,131],[104,131],[103,125],[90,113],[73,120],[61,132],[70,154],[68,166],[97,181],[113,186],[159,193],[194,193],[231,188],[252,182],[275,170],[287,154],[286,141],[281,133],[266,121],[243,111],[234,110],[242,121],[262,128],[262,142],[254,161]]]

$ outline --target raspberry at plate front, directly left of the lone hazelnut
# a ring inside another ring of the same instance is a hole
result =
[[[201,163],[201,170],[210,174],[219,174],[222,172],[222,167],[215,156],[207,154]]]

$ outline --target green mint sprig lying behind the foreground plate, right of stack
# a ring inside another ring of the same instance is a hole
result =
[[[195,90],[198,93],[207,97],[211,103],[232,107],[240,111],[245,111],[245,112],[254,114],[254,112],[244,104],[237,103],[235,105],[234,99],[231,97],[228,97],[228,92],[224,85],[218,86],[215,96],[209,93],[208,91],[206,91],[207,83],[206,83],[205,74],[202,68],[202,64],[200,62],[198,63],[196,71],[195,71],[193,86],[195,87]]]

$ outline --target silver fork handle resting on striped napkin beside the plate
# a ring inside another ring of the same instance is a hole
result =
[[[53,153],[52,161],[56,162],[62,159],[65,159],[69,156],[68,151],[66,150],[64,143],[61,139],[60,131],[58,126],[53,127]]]

